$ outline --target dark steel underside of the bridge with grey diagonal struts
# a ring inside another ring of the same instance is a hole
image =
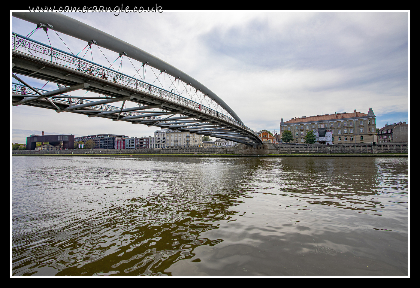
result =
[[[15,85],[13,90],[16,92],[13,93],[12,91],[13,106],[23,104],[53,109],[57,112],[72,112],[89,117],[107,118],[113,121],[126,121],[132,124],[146,124],[148,126],[182,130],[232,140],[254,147],[262,144],[262,140],[255,132],[250,132],[249,128],[240,127],[235,121],[230,121],[222,114],[210,115],[203,112],[201,106],[197,103],[195,103],[197,104],[195,106],[191,105],[191,103],[187,103],[186,100],[175,94],[173,98],[160,97],[156,95],[156,92],[139,90],[117,83],[115,79],[114,81],[103,79],[97,75],[86,73],[86,71],[78,71],[19,51],[12,51],[12,63],[13,73],[69,87],[75,85],[80,87],[82,85],[83,90],[106,95],[91,100],[92,98],[89,97],[71,97],[58,95],[58,93],[51,97],[40,97],[33,92],[33,95],[30,96],[38,96],[38,98],[29,101],[27,99],[29,95],[21,95],[18,91],[21,86]],[[161,94],[163,91],[161,90]],[[30,92],[27,94],[30,94]],[[123,102],[122,105],[111,106],[111,103],[121,101]],[[126,101],[133,102],[137,106],[123,108]]]

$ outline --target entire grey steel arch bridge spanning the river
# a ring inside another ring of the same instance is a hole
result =
[[[110,68],[94,62],[92,54],[89,61],[12,32],[12,76],[17,80],[12,83],[13,106],[36,106],[58,113],[72,112],[197,133],[254,147],[262,145],[261,138],[222,99],[165,61],[61,13],[13,12],[12,16],[37,24],[37,29],[45,32],[61,32],[84,40],[91,53],[92,46],[106,48],[118,53],[121,60],[119,71],[111,63]],[[123,58],[128,58],[138,77],[122,72]],[[58,89],[32,87],[16,74],[55,82]],[[147,82],[147,76],[154,81]],[[99,96],[68,95],[76,90]],[[117,105],[118,102],[122,104]]]

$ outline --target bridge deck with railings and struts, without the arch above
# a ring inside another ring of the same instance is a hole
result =
[[[262,144],[252,129],[200,103],[16,33],[13,36],[13,73],[70,87],[87,83],[89,86],[84,90],[108,96],[97,101],[87,97],[75,102],[63,100],[66,96],[61,95],[61,98],[39,98],[24,105],[184,130],[253,146]],[[15,85],[16,92],[12,92],[12,105],[25,98],[17,91],[18,87]],[[138,106],[123,109],[109,105],[120,101],[131,101]],[[143,111],[146,109],[159,111]]]

